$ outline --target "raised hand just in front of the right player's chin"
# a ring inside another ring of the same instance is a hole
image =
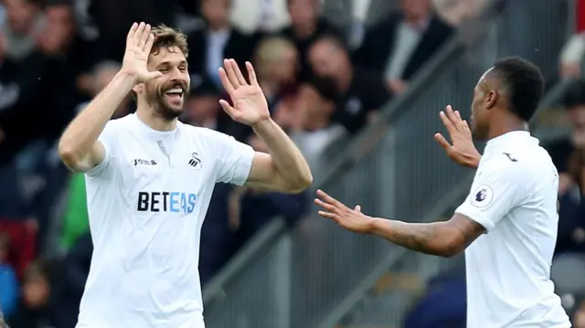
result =
[[[459,111],[453,111],[448,105],[446,111],[439,113],[442,123],[449,132],[451,142],[449,143],[441,133],[435,134],[435,140],[445,150],[445,153],[453,162],[467,167],[477,167],[482,155],[477,152],[473,145],[472,132],[465,120],[462,120]]]

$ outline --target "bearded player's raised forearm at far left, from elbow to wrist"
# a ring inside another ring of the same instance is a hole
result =
[[[80,158],[90,152],[113,112],[128,96],[134,79],[122,72],[69,123],[58,143],[59,153]]]

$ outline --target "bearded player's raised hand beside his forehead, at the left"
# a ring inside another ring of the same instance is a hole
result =
[[[148,70],[148,56],[153,48],[154,34],[149,24],[134,23],[126,37],[126,50],[122,61],[122,71],[132,76],[136,83],[144,83],[159,78],[163,73]]]

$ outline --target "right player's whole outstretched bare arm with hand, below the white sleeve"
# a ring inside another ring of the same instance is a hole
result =
[[[461,253],[485,229],[468,217],[455,214],[448,221],[433,223],[408,223],[381,217],[369,217],[361,208],[351,209],[334,197],[317,191],[315,199],[322,217],[333,219],[348,230],[376,235],[407,249],[421,253],[452,257]]]

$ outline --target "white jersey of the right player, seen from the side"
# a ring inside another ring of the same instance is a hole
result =
[[[557,169],[529,132],[486,144],[455,211],[486,230],[465,251],[469,328],[570,327],[550,280],[557,194]]]

